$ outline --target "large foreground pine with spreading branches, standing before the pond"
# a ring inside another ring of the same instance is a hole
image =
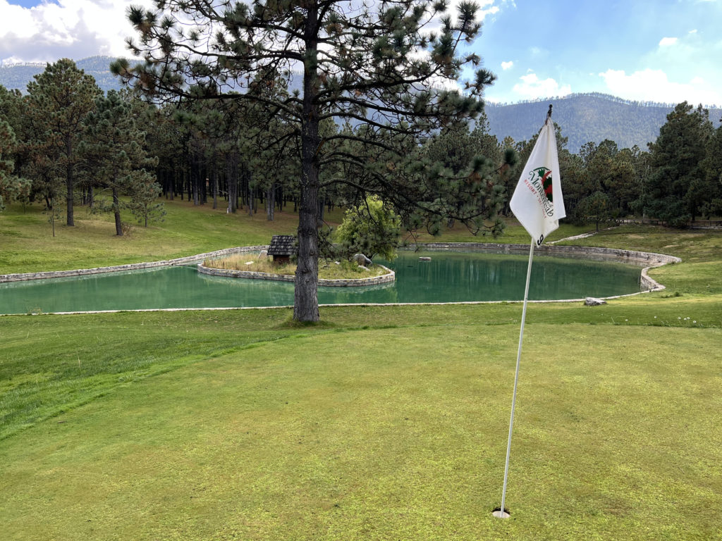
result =
[[[400,154],[440,126],[477,115],[482,90],[494,76],[479,69],[467,94],[443,89],[465,63],[458,45],[479,32],[477,4],[458,4],[456,19],[443,1],[168,0],[157,9],[131,7],[139,32],[130,41],[145,63],[118,61],[116,74],[145,92],[191,100],[237,100],[263,107],[267,121],[293,126],[301,175],[294,318],[318,320],[318,217],[320,172],[332,164],[352,167],[353,177],[335,178],[359,192],[380,193],[397,211],[417,216],[454,214],[472,221],[486,213],[486,179],[455,180],[431,164]],[[441,16],[437,32],[427,27]],[[287,97],[248,92],[252,81],[272,85],[303,69],[302,90]],[[363,130],[323,137],[323,120],[355,123]],[[344,141],[356,141],[349,154]],[[389,144],[391,143],[391,144]],[[372,161],[383,157],[384,162]],[[477,162],[479,166],[483,162]],[[357,180],[365,180],[360,185]],[[327,180],[327,182],[331,182]],[[444,201],[443,198],[464,198]]]

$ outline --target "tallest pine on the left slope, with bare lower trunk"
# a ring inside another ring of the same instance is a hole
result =
[[[102,94],[92,76],[77,69],[68,58],[48,64],[35,81],[27,84],[30,94],[27,113],[37,126],[39,138],[35,157],[41,162],[48,153],[65,180],[66,222],[73,226],[74,189],[82,161],[78,146],[84,133],[84,120]]]

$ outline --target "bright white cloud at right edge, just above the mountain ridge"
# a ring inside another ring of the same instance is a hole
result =
[[[661,69],[645,69],[629,75],[624,70],[608,69],[599,76],[610,94],[625,100],[722,104],[722,92],[700,76],[688,83],[670,81]]]

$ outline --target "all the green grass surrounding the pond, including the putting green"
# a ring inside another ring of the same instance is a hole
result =
[[[61,242],[11,208],[0,273],[295,229],[292,215],[171,208],[127,239],[93,219]],[[499,242],[528,237],[510,224]],[[317,325],[287,309],[122,312],[0,317],[0,537],[720,539],[722,235],[624,227],[574,243],[683,263],[652,271],[659,293],[529,305],[510,520],[491,510],[521,304],[329,307]],[[27,267],[5,266],[23,250]]]

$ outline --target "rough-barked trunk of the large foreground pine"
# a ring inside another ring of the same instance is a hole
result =
[[[313,5],[313,4],[311,4]],[[293,319],[318,321],[318,74],[315,34],[318,12],[308,10],[305,46],[309,59],[303,74],[303,118],[301,121],[301,203],[298,209],[298,259],[293,300]]]

